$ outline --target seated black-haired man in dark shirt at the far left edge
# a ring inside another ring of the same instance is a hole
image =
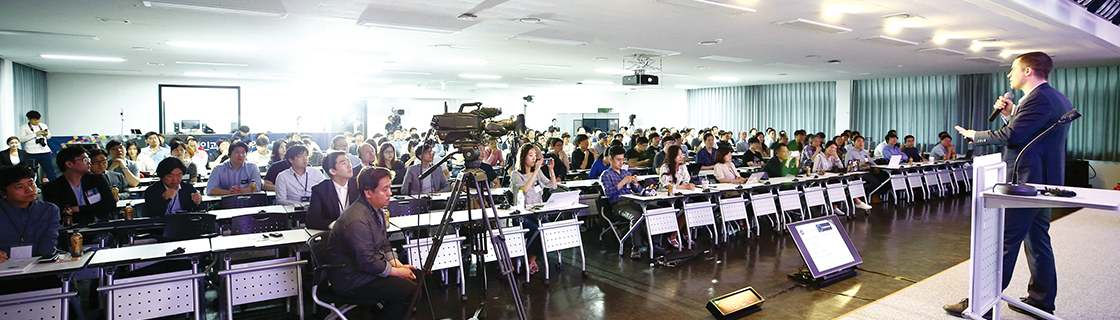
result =
[[[31,246],[32,256],[54,254],[62,216],[54,204],[36,199],[35,172],[24,166],[0,168],[0,208],[8,216],[0,219],[0,262],[18,246]]]

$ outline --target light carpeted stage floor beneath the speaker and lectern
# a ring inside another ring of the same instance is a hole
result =
[[[1120,211],[1083,209],[1054,222],[1051,241],[1057,264],[1055,316],[1063,319],[1120,319]],[[962,248],[967,250],[967,248]],[[968,262],[848,313],[840,319],[959,319],[941,309],[968,294]],[[1029,279],[1019,252],[1015,277],[1005,293],[1025,297]],[[1002,303],[1002,319],[1032,319]]]

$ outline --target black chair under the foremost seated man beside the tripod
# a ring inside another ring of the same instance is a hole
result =
[[[315,301],[315,304],[330,310],[333,316],[347,320],[346,311],[361,304],[370,304],[371,301],[368,298],[345,298],[336,294],[335,290],[330,288],[330,282],[327,281],[327,272],[343,267],[344,264],[327,263],[327,243],[329,242],[330,230],[315,234],[307,239],[307,247],[311,251],[311,265],[315,267],[311,280],[311,300]],[[376,302],[376,307],[381,308],[382,305],[380,302]]]

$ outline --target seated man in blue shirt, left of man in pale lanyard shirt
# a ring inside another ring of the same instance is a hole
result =
[[[211,196],[225,196],[260,190],[263,186],[261,171],[256,169],[256,164],[245,162],[248,153],[248,144],[233,142],[230,145],[230,161],[214,167],[209,181],[206,182],[206,192]]]

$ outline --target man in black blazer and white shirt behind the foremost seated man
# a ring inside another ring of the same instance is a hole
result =
[[[365,144],[365,143],[363,143]],[[368,144],[365,144],[368,145]],[[346,154],[335,151],[323,158],[323,170],[330,179],[311,187],[311,205],[307,208],[307,228],[329,229],[346,207],[362,197]]]

